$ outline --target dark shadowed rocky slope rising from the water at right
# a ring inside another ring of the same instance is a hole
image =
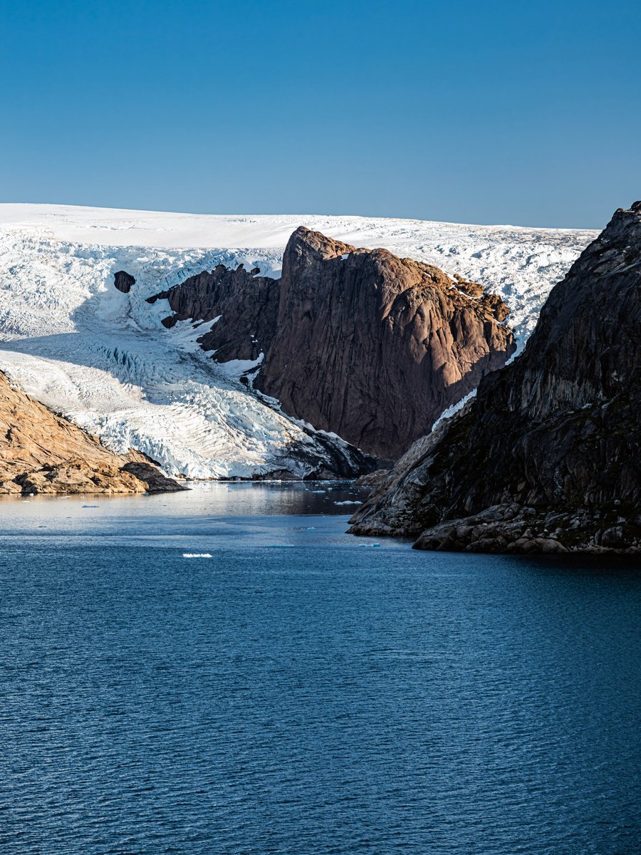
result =
[[[616,211],[550,293],[524,353],[417,445],[352,530],[423,533],[426,548],[634,549],[640,416],[635,203]]]

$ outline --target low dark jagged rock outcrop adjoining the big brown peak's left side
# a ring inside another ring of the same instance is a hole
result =
[[[173,315],[162,321],[166,327],[187,319],[203,321],[197,341],[203,350],[215,351],[218,362],[255,360],[272,343],[279,304],[279,280],[258,273],[259,268],[248,271],[243,264],[233,270],[219,264],[147,302],[168,300]],[[215,323],[209,327],[208,321]]]

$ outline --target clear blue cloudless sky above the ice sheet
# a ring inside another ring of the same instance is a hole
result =
[[[602,227],[641,2],[0,0],[0,200]]]

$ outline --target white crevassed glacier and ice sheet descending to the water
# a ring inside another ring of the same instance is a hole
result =
[[[244,262],[278,277],[300,225],[480,282],[509,305],[520,347],[551,287],[597,235],[361,216],[0,204],[0,369],[113,451],[137,448],[168,473],[250,477],[289,463],[304,475],[300,449],[322,458],[327,434],[241,383],[249,363],[219,365],[203,353],[202,328],[190,321],[163,327],[164,300],[146,303],[217,263]],[[118,270],[136,279],[127,294],[115,289]]]

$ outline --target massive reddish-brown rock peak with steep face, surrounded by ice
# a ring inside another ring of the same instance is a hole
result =
[[[291,416],[395,459],[505,363],[506,315],[474,283],[300,227],[255,386]]]

